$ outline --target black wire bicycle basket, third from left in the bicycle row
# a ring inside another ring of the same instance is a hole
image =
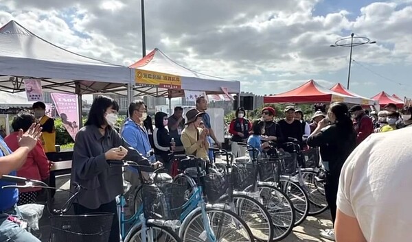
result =
[[[243,191],[248,186],[255,184],[258,172],[257,165],[253,163],[236,163],[232,167],[233,189]]]

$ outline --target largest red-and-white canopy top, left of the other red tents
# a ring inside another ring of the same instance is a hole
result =
[[[325,88],[314,80],[310,80],[305,84],[290,90],[286,93],[281,93],[274,96],[263,97],[265,104],[268,103],[314,103],[314,102],[333,102],[345,101],[350,104],[361,104],[361,98],[335,93],[328,88]]]

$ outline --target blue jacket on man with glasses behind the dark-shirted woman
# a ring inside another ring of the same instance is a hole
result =
[[[152,150],[150,145],[148,132],[143,126],[137,125],[135,121],[128,118],[124,122],[122,129],[124,140],[142,156],[148,158],[148,153]]]

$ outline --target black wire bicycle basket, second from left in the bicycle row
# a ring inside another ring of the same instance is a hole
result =
[[[202,176],[203,189],[209,203],[218,202],[218,199],[227,193],[230,175],[225,173],[207,174]]]

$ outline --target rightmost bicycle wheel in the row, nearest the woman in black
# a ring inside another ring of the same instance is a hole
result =
[[[325,197],[325,188],[322,182],[318,182],[316,179],[317,172],[315,171],[302,171],[302,178],[305,182],[305,191],[308,194],[310,209],[309,215],[319,215],[325,210],[328,210],[328,202]]]

